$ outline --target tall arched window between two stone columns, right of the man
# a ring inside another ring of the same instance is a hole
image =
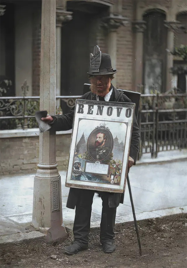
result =
[[[165,92],[166,85],[166,15],[162,10],[149,10],[143,16],[146,31],[143,40],[144,93]]]

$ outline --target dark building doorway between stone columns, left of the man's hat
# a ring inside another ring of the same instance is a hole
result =
[[[73,18],[62,27],[62,95],[83,94],[83,84],[89,82],[89,55],[97,45],[98,22],[108,10],[108,5],[93,1],[67,1]]]

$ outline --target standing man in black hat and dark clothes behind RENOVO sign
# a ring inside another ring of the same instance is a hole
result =
[[[91,91],[84,94],[80,99],[132,103],[125,94],[118,91],[111,84],[116,72],[117,70],[112,68],[110,55],[101,53],[99,47],[95,46],[93,55],[90,55],[90,70],[88,72]],[[73,118],[74,109],[67,114],[48,115],[46,118],[41,119],[50,124],[53,130],[62,131],[72,129]],[[129,168],[136,164],[139,139],[139,127],[134,117]],[[71,246],[65,248],[66,254],[73,255],[88,248],[88,234],[90,231],[91,207],[94,193],[94,190],[70,188],[66,206],[70,209],[75,209],[76,207],[76,210],[73,227],[74,242]],[[103,245],[104,253],[112,253],[116,248],[113,244],[116,208],[120,202],[123,203],[123,195],[120,193],[99,192],[99,196],[103,201],[100,242]]]

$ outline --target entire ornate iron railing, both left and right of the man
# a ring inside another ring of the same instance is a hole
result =
[[[56,97],[56,113],[69,112],[79,97]],[[0,97],[0,129],[37,127],[35,111],[39,97]],[[187,148],[187,94],[141,95],[138,123],[139,159],[144,153],[157,157],[160,151]]]

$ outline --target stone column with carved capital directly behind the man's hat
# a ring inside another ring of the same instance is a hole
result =
[[[125,26],[127,23],[128,20],[126,17],[110,14],[109,17],[103,19],[101,24],[108,31],[108,54],[111,57],[113,69],[117,69],[117,30],[120,26]],[[112,84],[116,87],[116,77],[112,81]]]

